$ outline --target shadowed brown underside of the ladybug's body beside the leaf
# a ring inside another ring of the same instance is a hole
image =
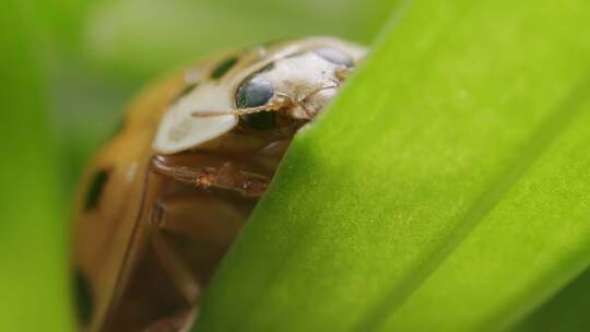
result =
[[[107,330],[143,331],[160,323],[169,328],[170,318],[181,324],[194,315],[202,289],[259,199],[233,187],[233,181],[241,174],[270,181],[278,162],[256,154],[158,157],[146,182],[157,188],[144,203],[144,221],[151,225],[148,240]],[[226,178],[211,179],[210,187],[194,186],[199,175],[217,174],[223,167],[229,168]],[[167,169],[184,169],[188,178],[174,178],[178,174]]]

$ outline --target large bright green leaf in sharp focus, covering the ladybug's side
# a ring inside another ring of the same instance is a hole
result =
[[[486,331],[590,263],[590,3],[409,2],[302,132],[196,331]]]

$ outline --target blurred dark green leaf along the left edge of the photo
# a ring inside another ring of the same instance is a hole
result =
[[[0,331],[70,331],[67,228],[27,3],[2,2]]]

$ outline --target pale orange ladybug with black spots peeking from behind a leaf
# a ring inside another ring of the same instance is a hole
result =
[[[279,42],[149,87],[78,194],[80,331],[188,331],[293,137],[366,51],[333,37]]]

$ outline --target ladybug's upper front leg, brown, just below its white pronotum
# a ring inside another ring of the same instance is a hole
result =
[[[239,169],[233,162],[220,166],[179,167],[167,165],[157,156],[152,159],[152,169],[156,174],[189,183],[202,189],[219,188],[238,191],[246,197],[261,197],[270,185],[271,178]]]

